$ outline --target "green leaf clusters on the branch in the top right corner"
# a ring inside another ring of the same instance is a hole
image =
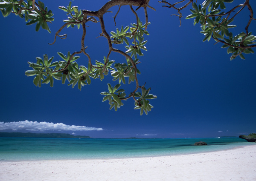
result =
[[[186,19],[195,18],[194,25],[196,23],[201,24],[201,33],[205,35],[203,41],[209,41],[212,37],[216,42],[224,43],[222,48],[228,47],[227,53],[232,53],[230,60],[238,55],[241,59],[245,59],[242,53],[254,52],[250,47],[244,47],[255,44],[256,36],[252,35],[251,32],[247,34],[242,32],[233,37],[233,34],[229,32],[229,29],[236,27],[236,25],[230,24],[234,20],[233,17],[228,18],[228,13],[222,10],[226,9],[225,3],[232,2],[233,0],[205,0],[202,5],[199,4],[198,6],[193,3],[193,9],[190,9],[192,14],[187,16]],[[228,39],[225,37],[228,37]]]

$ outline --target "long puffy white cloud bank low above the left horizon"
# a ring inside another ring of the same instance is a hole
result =
[[[12,129],[17,130],[28,130],[28,131],[102,131],[102,128],[94,128],[87,126],[75,126],[66,125],[63,123],[48,123],[48,122],[33,122],[33,121],[18,121],[4,123],[0,122],[0,130]]]

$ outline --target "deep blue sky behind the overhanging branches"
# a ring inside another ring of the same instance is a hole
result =
[[[25,71],[31,69],[28,61],[35,62],[35,57],[47,54],[54,56],[53,61],[62,60],[57,52],[64,55],[68,51],[79,51],[81,48],[81,29],[68,28],[62,32],[67,33],[67,39],[57,38],[52,43],[55,32],[63,25],[62,20],[67,19],[64,11],[58,6],[67,6],[69,0],[44,0],[45,6],[52,9],[55,20],[49,24],[52,31],[40,29],[35,32],[35,25],[26,26],[24,19],[14,14],[4,18],[0,16],[0,52],[1,52],[1,109],[0,122],[2,128],[6,123],[26,125],[26,122],[37,121],[44,123],[62,123],[65,125],[88,126],[102,128],[101,131],[61,131],[88,135],[93,138],[200,138],[216,136],[238,136],[256,132],[256,55],[245,55],[246,60],[239,57],[230,61],[227,49],[221,49],[221,44],[215,41],[202,42],[204,35],[200,33],[200,25],[193,26],[193,20],[185,20],[190,13],[183,10],[182,24],[176,11],[161,7],[156,0],[150,5],[157,11],[148,9],[148,26],[150,36],[146,36],[148,49],[140,57],[138,75],[140,85],[146,82],[151,87],[157,99],[151,100],[154,106],[148,115],[140,116],[139,110],[134,110],[134,101],[123,101],[125,104],[117,112],[109,110],[107,101],[102,102],[100,92],[108,90],[107,83],[113,82],[109,75],[104,80],[93,80],[91,85],[84,86],[82,91],[77,86],[62,85],[55,80],[54,87],[42,84],[41,88],[33,84],[34,77],[26,77]],[[107,0],[72,1],[73,6],[79,9],[98,10]],[[241,3],[244,1],[241,1]],[[254,0],[250,1],[253,8]],[[116,27],[113,16],[117,8],[111,9],[113,13],[105,14],[105,24],[108,32],[116,28],[136,23],[134,14],[129,7],[123,6],[116,17]],[[144,10],[138,10],[140,19],[145,22]],[[244,31],[249,19],[249,12],[244,10],[244,16],[233,24],[241,25],[233,29],[234,32]],[[88,23],[85,45],[87,53],[94,60],[103,60],[108,54],[108,44],[101,33],[99,23]],[[255,31],[254,21],[249,31]],[[256,32],[254,32],[255,34]],[[117,48],[123,49],[124,45]],[[256,51],[256,49],[254,49]],[[122,63],[124,58],[115,53],[111,60]],[[80,56],[79,65],[87,66],[87,57]],[[128,81],[127,81],[128,82]],[[127,94],[134,90],[135,84],[122,86]],[[33,123],[36,124],[36,123]],[[42,126],[43,128],[44,126]],[[33,127],[35,128],[35,127]],[[12,127],[12,129],[15,129]],[[28,129],[28,130],[26,130]],[[38,132],[31,127],[16,128],[17,132]],[[1,130],[11,132],[11,129]],[[48,130],[42,132],[60,132]]]

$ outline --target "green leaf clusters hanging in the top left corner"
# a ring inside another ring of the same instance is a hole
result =
[[[54,20],[52,11],[48,11],[48,8],[44,7],[44,3],[39,0],[38,6],[35,8],[33,8],[32,0],[27,0],[27,3],[24,1],[19,3],[18,0],[0,0],[0,10],[4,17],[15,13],[21,18],[25,18],[26,22],[29,21],[26,25],[36,23],[35,31],[37,32],[42,27],[51,33],[47,22],[51,23]]]

